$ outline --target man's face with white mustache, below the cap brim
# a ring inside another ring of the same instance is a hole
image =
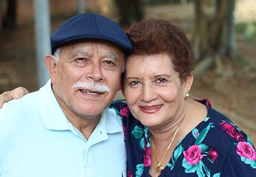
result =
[[[99,117],[120,90],[123,63],[123,50],[111,42],[86,40],[62,47],[52,83],[65,114]]]

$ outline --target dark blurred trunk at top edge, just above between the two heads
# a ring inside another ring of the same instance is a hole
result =
[[[129,27],[144,18],[145,0],[115,0],[119,9],[119,24]]]

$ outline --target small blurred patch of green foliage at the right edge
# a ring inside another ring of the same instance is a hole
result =
[[[256,44],[256,22],[236,24],[236,33],[244,35],[247,40]]]

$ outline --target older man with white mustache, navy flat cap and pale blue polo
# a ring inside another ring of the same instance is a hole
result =
[[[125,176],[120,90],[132,44],[116,22],[79,14],[51,38],[50,80],[0,109],[0,176]]]

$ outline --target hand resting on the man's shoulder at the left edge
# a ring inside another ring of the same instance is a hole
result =
[[[5,91],[4,93],[0,94],[0,109],[4,105],[4,103],[7,103],[8,101],[14,100],[14,99],[20,99],[25,94],[28,94],[28,90],[24,87],[17,87],[14,90],[11,91]]]

